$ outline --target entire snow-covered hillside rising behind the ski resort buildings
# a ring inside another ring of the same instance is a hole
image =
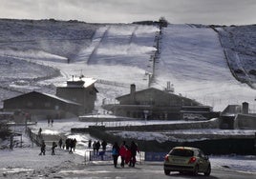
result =
[[[236,69],[229,69],[236,66],[255,77],[256,40],[251,38],[255,37],[255,26],[212,29],[171,24],[160,32],[157,26],[54,20],[5,19],[0,25],[0,73],[5,76],[0,78],[1,100],[32,89],[54,93],[54,87],[71,75],[83,74],[97,79],[99,107],[103,98],[113,102],[128,93],[132,83],[137,89],[146,89],[149,74],[154,73],[152,87],[164,89],[170,81],[176,93],[215,110],[244,101],[256,110],[255,90],[251,88],[254,81],[250,86],[241,83],[232,74]],[[229,31],[236,31],[238,43],[225,35]],[[235,55],[226,55],[237,44],[245,47],[237,52],[239,56],[246,54],[243,63],[233,63]],[[156,53],[158,47],[160,54]],[[27,83],[33,78],[52,77],[57,70],[62,74],[59,77]],[[24,71],[25,77],[21,75]]]

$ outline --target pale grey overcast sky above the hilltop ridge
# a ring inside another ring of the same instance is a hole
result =
[[[0,18],[131,23],[256,24],[256,0],[0,0]]]

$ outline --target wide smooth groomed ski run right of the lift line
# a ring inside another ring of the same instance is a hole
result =
[[[170,80],[177,92],[216,110],[254,103],[255,90],[232,76],[218,34],[209,28],[169,25],[164,29],[159,69],[160,85]]]

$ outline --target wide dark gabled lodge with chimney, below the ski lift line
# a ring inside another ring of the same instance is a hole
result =
[[[135,85],[131,85],[129,94],[117,97],[117,101],[119,104],[103,105],[103,109],[118,116],[161,120],[205,120],[214,114],[211,107],[168,90],[150,88],[136,91]]]

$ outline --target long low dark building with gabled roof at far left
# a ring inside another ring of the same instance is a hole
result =
[[[36,119],[46,119],[48,116],[51,118],[74,116],[78,115],[81,109],[82,106],[74,101],[37,91],[4,100],[4,110],[22,111],[35,116]]]

